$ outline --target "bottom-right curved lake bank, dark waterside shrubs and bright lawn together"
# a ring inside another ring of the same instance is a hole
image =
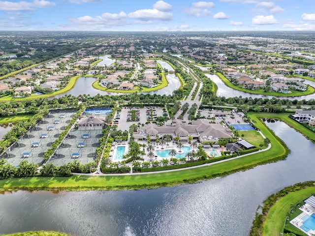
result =
[[[310,197],[314,192],[315,181],[307,181],[285,187],[278,193],[270,195],[264,201],[262,213],[256,214],[250,235],[270,236],[283,234],[285,219],[292,210],[292,206]]]

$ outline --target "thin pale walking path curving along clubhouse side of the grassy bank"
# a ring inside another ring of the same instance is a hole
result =
[[[258,150],[252,153],[248,153],[248,154],[244,154],[244,155],[240,155],[240,156],[236,156],[236,157],[232,157],[229,159],[224,159],[221,161],[216,161],[216,162],[212,162],[212,163],[206,163],[203,165],[198,165],[198,166],[191,166],[191,167],[186,167],[186,168],[181,168],[181,169],[175,169],[175,170],[166,170],[166,171],[155,171],[155,172],[141,172],[141,173],[126,173],[126,174],[103,174],[103,173],[99,173],[99,174],[82,174],[82,173],[72,173],[73,175],[80,175],[80,176],[129,176],[129,175],[150,175],[150,174],[157,174],[157,173],[166,173],[166,172],[173,172],[173,171],[183,171],[183,170],[189,170],[189,169],[194,169],[194,168],[199,168],[199,167],[204,167],[204,166],[211,166],[213,164],[217,164],[217,163],[221,163],[221,162],[225,162],[225,161],[230,161],[230,160],[234,160],[234,159],[238,159],[244,156],[248,156],[248,155],[252,155],[258,152],[263,152],[263,151],[267,151],[271,148],[271,144],[268,145],[267,148],[262,149],[262,150]]]

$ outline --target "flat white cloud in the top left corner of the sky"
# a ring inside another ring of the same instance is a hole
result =
[[[23,11],[35,10],[36,8],[45,8],[55,6],[55,2],[46,0],[34,0],[33,2],[27,1],[0,1],[0,10],[2,11]]]

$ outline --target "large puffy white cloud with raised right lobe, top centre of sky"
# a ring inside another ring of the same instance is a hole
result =
[[[153,5],[153,9],[140,9],[136,10],[134,12],[130,12],[128,14],[128,17],[130,18],[136,18],[141,21],[152,21],[152,20],[158,20],[158,21],[169,21],[172,20],[173,14],[169,11],[172,8],[172,5],[166,3],[164,1],[157,1]],[[160,10],[162,9],[162,10]]]

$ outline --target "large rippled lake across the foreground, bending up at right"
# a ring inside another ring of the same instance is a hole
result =
[[[272,193],[315,179],[315,144],[269,122],[291,149],[284,161],[195,184],[153,190],[17,191],[0,195],[0,234],[54,230],[75,236],[246,236]]]

